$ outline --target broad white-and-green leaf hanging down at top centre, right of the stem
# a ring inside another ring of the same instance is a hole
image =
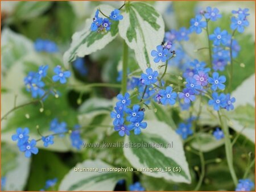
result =
[[[163,18],[151,5],[144,2],[130,2],[119,22],[119,34],[127,45],[134,49],[136,60],[143,71],[148,66],[158,70],[151,51],[156,49],[164,37]]]

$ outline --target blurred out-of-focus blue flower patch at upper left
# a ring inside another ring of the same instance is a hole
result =
[[[50,40],[36,39],[34,48],[37,52],[55,53],[59,51],[57,45]]]

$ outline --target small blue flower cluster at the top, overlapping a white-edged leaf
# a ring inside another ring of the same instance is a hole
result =
[[[110,21],[118,21],[122,20],[123,16],[120,14],[120,10],[115,9],[113,10],[108,18],[101,18],[98,16],[100,10],[96,10],[95,16],[93,18],[93,22],[90,26],[90,30],[100,32],[101,34],[105,34],[110,30],[112,22]]]

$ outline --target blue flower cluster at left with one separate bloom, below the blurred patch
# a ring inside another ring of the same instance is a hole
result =
[[[51,90],[46,90],[44,87],[46,83],[42,80],[47,77],[48,65],[39,66],[38,72],[29,72],[27,77],[24,78],[24,84],[26,90],[31,93],[32,98],[43,98],[46,97],[47,93],[51,93]],[[54,82],[60,81],[61,84],[67,82],[66,78],[71,76],[71,72],[61,70],[61,66],[56,66],[54,69],[55,76],[52,77]],[[54,91],[53,91],[54,92]]]

